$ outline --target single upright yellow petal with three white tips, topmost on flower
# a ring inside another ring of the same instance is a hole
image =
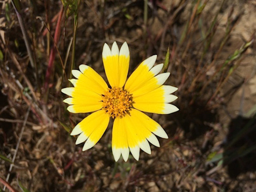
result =
[[[102,59],[111,87],[123,87],[127,78],[130,60],[127,43],[123,43],[120,52],[116,42],[113,43],[111,50],[105,43],[102,50]]]

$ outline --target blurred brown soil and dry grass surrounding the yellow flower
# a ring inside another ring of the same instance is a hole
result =
[[[1,0],[0,191],[256,191],[255,0]],[[169,138],[114,161],[112,122],[82,152],[60,92],[102,47],[127,41],[129,74],[157,54],[178,87]]]

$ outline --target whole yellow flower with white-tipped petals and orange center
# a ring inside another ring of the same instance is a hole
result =
[[[170,73],[157,75],[163,64],[153,67],[156,55],[144,60],[126,81],[129,69],[129,48],[126,42],[119,50],[116,42],[112,48],[105,43],[102,59],[111,88],[91,67],[81,64],[72,70],[76,79],[70,81],[74,87],[61,91],[68,96],[63,102],[70,104],[72,113],[93,112],[78,123],[71,135],[79,135],[76,144],[85,142],[83,151],[92,148],[107,129],[113,118],[112,152],[115,161],[121,154],[127,161],[129,150],[139,160],[140,149],[151,153],[149,143],[159,147],[156,136],[168,138],[161,125],[141,111],[170,114],[178,108],[169,104],[177,99],[171,95],[176,87],[163,85]]]

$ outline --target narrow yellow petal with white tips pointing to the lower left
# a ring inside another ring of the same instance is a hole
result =
[[[85,142],[83,151],[92,148],[107,129],[109,116],[103,110],[96,111],[78,123],[71,135],[78,135],[76,144]]]

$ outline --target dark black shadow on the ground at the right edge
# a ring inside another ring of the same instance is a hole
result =
[[[228,174],[236,178],[240,173],[256,170],[256,118],[238,116],[229,125],[224,148],[224,165]]]

